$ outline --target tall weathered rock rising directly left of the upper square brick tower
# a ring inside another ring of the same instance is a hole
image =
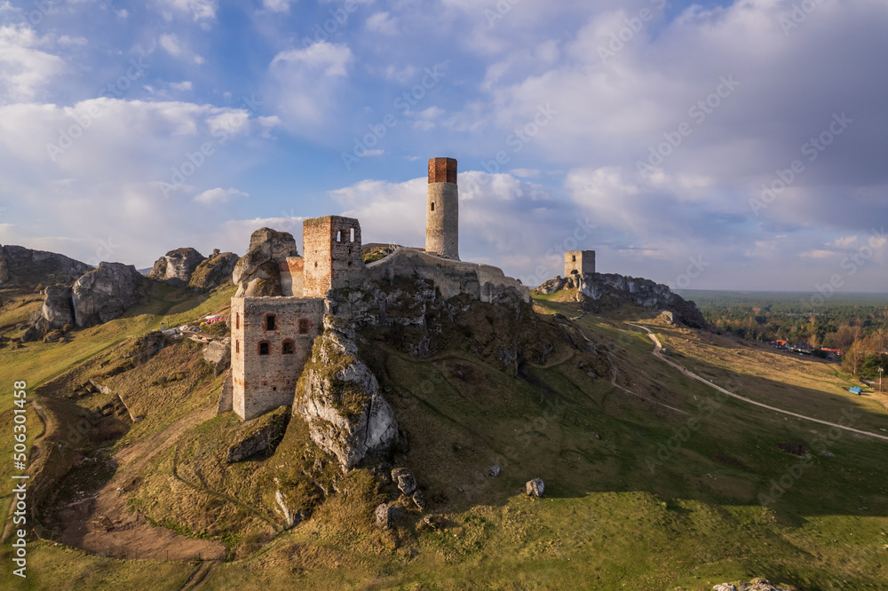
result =
[[[234,264],[232,281],[238,286],[234,297],[282,296],[278,263],[289,256],[298,256],[292,234],[271,228],[253,232],[250,251]]]

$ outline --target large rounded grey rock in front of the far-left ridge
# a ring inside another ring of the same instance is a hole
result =
[[[100,263],[71,288],[75,324],[87,327],[119,318],[147,295],[147,287],[131,264]]]

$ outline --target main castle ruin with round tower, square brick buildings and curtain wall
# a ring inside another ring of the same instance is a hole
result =
[[[459,260],[456,160],[429,161],[426,207],[425,249],[398,248],[370,264],[363,261],[357,219],[306,219],[302,256],[289,256],[297,254],[291,251],[273,262],[282,295],[232,298],[232,398],[243,421],[293,404],[296,384],[330,311],[331,290],[408,277],[431,281],[444,298],[467,294],[495,302],[509,294],[530,301],[527,287],[502,270]]]

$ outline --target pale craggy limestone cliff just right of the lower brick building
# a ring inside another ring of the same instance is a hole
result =
[[[392,407],[357,351],[353,330],[342,319],[325,316],[324,332],[305,366],[304,390],[297,391],[293,406],[308,423],[314,444],[335,456],[344,471],[388,452],[398,438]]]

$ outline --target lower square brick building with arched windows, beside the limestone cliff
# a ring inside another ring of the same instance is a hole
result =
[[[242,420],[293,404],[296,382],[311,356],[323,313],[321,299],[232,299],[234,412]],[[269,316],[274,317],[273,329],[267,324]]]

